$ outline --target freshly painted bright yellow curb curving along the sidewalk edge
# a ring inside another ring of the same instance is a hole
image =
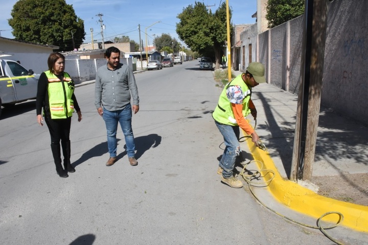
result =
[[[316,219],[327,212],[340,212],[344,217],[340,225],[357,231],[368,232],[368,207],[326,198],[293,181],[283,179],[269,154],[257,148],[251,140],[246,141],[254,159],[262,162],[264,169],[274,172],[274,178],[269,183],[268,189],[280,203]],[[261,163],[258,167],[262,167]],[[265,181],[269,181],[271,177],[272,175],[266,175],[264,177]],[[338,218],[337,214],[328,215],[323,220],[336,224]]]

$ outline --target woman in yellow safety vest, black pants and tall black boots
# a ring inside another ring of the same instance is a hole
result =
[[[68,172],[75,172],[70,162],[71,143],[69,139],[72,115],[77,111],[78,121],[82,113],[74,95],[74,82],[64,72],[65,57],[57,52],[51,53],[48,59],[49,70],[42,72],[37,87],[36,113],[37,122],[42,124],[42,108],[46,125],[51,136],[51,151],[54,157],[57,174],[68,177]],[[61,165],[61,148],[64,156],[64,168]]]

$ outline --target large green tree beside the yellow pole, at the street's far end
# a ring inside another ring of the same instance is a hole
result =
[[[232,11],[229,10],[231,19]],[[226,3],[213,14],[203,3],[195,2],[178,14],[179,23],[176,24],[176,33],[193,52],[203,56],[215,57],[216,68],[219,68],[223,46],[227,39],[226,30]],[[231,30],[232,33],[232,30]]]

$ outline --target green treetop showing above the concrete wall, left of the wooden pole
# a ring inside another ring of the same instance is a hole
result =
[[[268,28],[277,27],[304,14],[304,2],[305,0],[268,0],[266,7]]]

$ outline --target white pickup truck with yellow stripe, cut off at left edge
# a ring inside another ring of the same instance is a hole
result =
[[[13,60],[0,59],[0,116],[2,106],[32,100],[37,95],[39,75]]]

